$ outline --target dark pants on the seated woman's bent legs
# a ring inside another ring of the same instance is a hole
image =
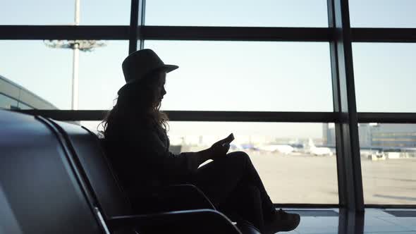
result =
[[[249,221],[259,230],[274,214],[274,205],[250,157],[232,152],[198,168],[192,183],[231,219]]]

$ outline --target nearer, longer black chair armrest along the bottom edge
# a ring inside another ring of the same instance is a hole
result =
[[[107,219],[112,231],[135,228],[139,233],[231,233],[241,234],[233,223],[212,209],[171,211],[156,214],[114,216]]]

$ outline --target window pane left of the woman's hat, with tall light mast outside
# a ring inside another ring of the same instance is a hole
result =
[[[128,42],[100,43],[105,46],[80,51],[78,109],[110,109],[125,83],[121,62],[128,54]],[[71,109],[72,49],[50,48],[43,41],[0,41],[0,51],[1,75],[51,104],[36,109]]]

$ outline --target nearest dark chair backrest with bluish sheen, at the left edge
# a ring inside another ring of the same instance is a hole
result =
[[[0,232],[103,233],[84,191],[45,122],[0,110]]]

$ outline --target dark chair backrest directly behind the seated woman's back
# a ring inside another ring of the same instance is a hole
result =
[[[132,214],[130,203],[118,184],[98,137],[80,125],[61,121],[54,123],[72,145],[78,168],[84,173],[84,179],[94,192],[104,216]]]

